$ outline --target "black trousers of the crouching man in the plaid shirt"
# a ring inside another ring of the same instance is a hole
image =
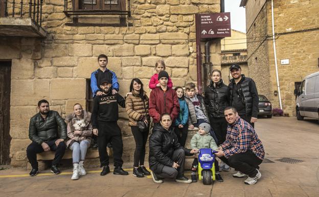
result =
[[[251,150],[239,154],[234,154],[228,159],[225,157],[221,157],[220,159],[227,165],[235,168],[235,170],[247,174],[249,177],[252,178],[256,176],[256,169],[259,169],[259,165],[262,162],[262,160],[259,159]]]

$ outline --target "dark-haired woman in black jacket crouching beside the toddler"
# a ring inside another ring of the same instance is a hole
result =
[[[149,166],[155,183],[163,183],[161,179],[175,179],[180,183],[191,183],[192,180],[184,176],[185,155],[192,156],[196,149],[181,146],[173,132],[170,114],[161,116],[161,125],[155,124],[149,138]]]

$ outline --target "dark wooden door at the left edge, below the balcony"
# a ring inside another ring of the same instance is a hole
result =
[[[0,61],[0,165],[10,164],[11,61]]]

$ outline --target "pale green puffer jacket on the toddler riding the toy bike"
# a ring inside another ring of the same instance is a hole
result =
[[[206,135],[200,135],[199,132],[197,132],[192,140],[191,140],[191,147],[200,149],[200,148],[212,148],[213,150],[217,150],[218,146],[214,140],[214,138],[207,133]]]

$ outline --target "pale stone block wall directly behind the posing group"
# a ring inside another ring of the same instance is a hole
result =
[[[107,68],[117,74],[122,96],[129,92],[132,78],[140,78],[148,87],[159,59],[165,61],[174,86],[196,82],[194,14],[220,12],[219,0],[132,0],[129,17],[75,17],[63,13],[63,4],[62,0],[43,2],[45,38],[15,37],[15,32],[0,37],[0,60],[11,62],[12,166],[28,163],[29,121],[38,112],[38,100],[47,99],[51,110],[62,117],[72,113],[75,103],[87,107],[90,73],[98,69],[97,56],[101,53],[109,57]],[[67,5],[72,7],[72,1]],[[10,5],[8,8],[12,12]],[[124,25],[120,23],[123,19]],[[74,21],[86,25],[72,25]],[[211,56],[214,66],[220,69],[220,41],[211,46]],[[120,110],[119,125],[123,159],[132,161],[135,142],[124,109]]]

